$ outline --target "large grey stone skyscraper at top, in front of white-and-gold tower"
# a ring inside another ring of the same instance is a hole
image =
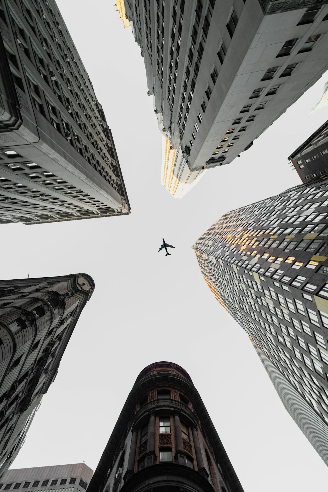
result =
[[[141,47],[159,129],[191,173],[229,164],[327,70],[322,3],[116,1]],[[186,179],[177,166],[174,179]]]

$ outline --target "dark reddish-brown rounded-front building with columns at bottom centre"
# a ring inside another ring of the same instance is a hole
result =
[[[119,415],[89,492],[242,492],[187,372],[145,368]]]

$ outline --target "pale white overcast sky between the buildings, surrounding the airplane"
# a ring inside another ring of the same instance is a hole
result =
[[[13,467],[95,469],[138,373],[167,360],[192,377],[245,492],[327,491],[326,465],[209,291],[191,246],[224,213],[300,184],[287,156],[328,119],[328,108],[307,116],[328,74],[239,159],[175,200],[161,186],[161,133],[131,29],[111,1],[58,4],[112,129],[132,214],[1,226],[10,241],[2,278],[86,272],[95,281]],[[162,237],[176,246],[170,258],[157,253]]]

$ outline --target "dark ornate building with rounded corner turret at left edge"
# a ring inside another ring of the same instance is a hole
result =
[[[0,481],[93,289],[86,274],[0,281]]]

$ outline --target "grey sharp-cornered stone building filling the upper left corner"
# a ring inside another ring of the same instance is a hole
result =
[[[113,136],[54,0],[0,0],[0,224],[130,212]]]

